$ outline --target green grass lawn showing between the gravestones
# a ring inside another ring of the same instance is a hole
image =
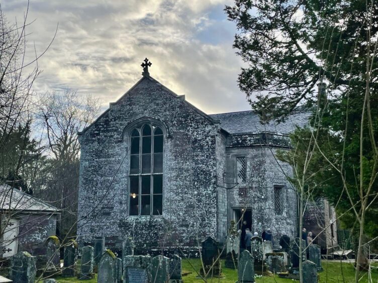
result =
[[[184,283],[190,283],[190,282],[203,282],[201,278],[198,278],[198,274],[196,271],[193,270],[193,267],[196,270],[200,270],[201,263],[199,259],[190,259],[190,262],[188,260],[182,259],[182,272],[187,273],[186,275],[182,276],[182,279],[184,280]],[[328,282],[328,283],[336,283],[336,282],[343,282],[343,283],[349,283],[354,282],[354,268],[351,263],[342,262],[340,261],[322,261],[324,271],[320,272],[320,282]],[[237,271],[234,269],[229,269],[224,266],[224,260],[222,261],[222,273],[224,277],[220,278],[220,282],[223,283],[235,283],[237,281]],[[372,282],[378,281],[378,264],[374,263],[371,271],[372,275]],[[344,280],[343,280],[344,275]],[[361,283],[368,283],[368,277],[367,273],[363,273],[362,278],[359,282]],[[57,277],[56,280],[60,283],[63,282],[86,282],[86,283],[96,283],[97,282],[97,274],[94,279],[91,280],[77,280],[77,278],[62,278]],[[218,278],[209,278],[208,282],[218,282]],[[291,279],[282,279],[278,276],[264,276],[263,278],[256,278],[257,283],[289,283],[293,282]]]

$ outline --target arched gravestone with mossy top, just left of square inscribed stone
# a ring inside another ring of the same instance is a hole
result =
[[[117,283],[117,257],[110,249],[100,257],[98,271],[98,283]]]

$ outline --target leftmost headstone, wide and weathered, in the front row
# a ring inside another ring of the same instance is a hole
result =
[[[20,251],[12,257],[9,275],[14,283],[34,283],[36,273],[35,256],[27,251]]]

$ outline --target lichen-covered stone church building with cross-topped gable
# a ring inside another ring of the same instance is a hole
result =
[[[195,249],[226,240],[230,220],[296,236],[296,193],[274,158],[308,114],[262,125],[252,111],[208,115],[142,78],[79,133],[77,235],[132,237],[140,250]]]

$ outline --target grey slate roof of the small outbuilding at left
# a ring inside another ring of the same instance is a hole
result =
[[[12,200],[11,200],[12,194]],[[0,205],[3,210],[9,209],[11,202],[11,210],[14,211],[42,211],[42,212],[58,212],[59,210],[44,201],[41,201],[31,195],[21,192],[18,189],[8,185],[0,185]]]

